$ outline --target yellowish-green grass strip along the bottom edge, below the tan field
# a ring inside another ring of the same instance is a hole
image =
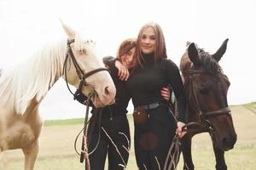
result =
[[[214,170],[215,158],[211,148],[193,150],[193,161],[196,170]],[[226,163],[230,170],[253,170],[256,167],[256,148],[245,148],[238,146],[234,150],[225,153]],[[8,166],[8,170],[20,170],[23,160],[13,160]],[[183,159],[177,165],[177,170],[183,167]],[[76,155],[67,156],[47,156],[39,157],[35,170],[82,170],[84,164],[79,163],[79,157]],[[105,168],[107,169],[107,168]],[[136,170],[136,161],[134,156],[130,156],[127,170]]]

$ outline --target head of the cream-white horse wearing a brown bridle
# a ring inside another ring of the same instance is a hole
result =
[[[68,37],[62,77],[80,93],[91,96],[96,107],[113,104],[116,89],[108,70],[96,55],[95,42],[84,41],[78,32],[63,23],[62,26]]]

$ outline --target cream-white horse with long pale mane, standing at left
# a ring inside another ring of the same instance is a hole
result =
[[[38,106],[60,77],[84,94],[93,91],[91,100],[97,107],[114,102],[115,87],[96,57],[95,43],[83,41],[78,33],[62,26],[68,40],[43,48],[0,77],[0,152],[21,149],[25,170],[33,169],[38,156],[43,124]]]

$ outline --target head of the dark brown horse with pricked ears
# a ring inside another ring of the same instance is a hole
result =
[[[230,150],[236,144],[236,131],[227,101],[230,81],[218,65],[226,51],[227,42],[228,39],[215,54],[209,54],[195,43],[189,43],[186,52],[188,57],[183,58],[180,65],[186,93],[190,93],[188,102],[192,102],[194,108],[197,107],[198,117],[201,117],[201,122],[210,132],[213,144],[221,150]]]

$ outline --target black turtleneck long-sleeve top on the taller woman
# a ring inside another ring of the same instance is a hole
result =
[[[177,65],[170,59],[154,62],[154,54],[144,54],[143,59],[144,67],[135,68],[126,83],[134,107],[164,101],[159,92],[171,85],[177,98],[177,121],[185,122],[186,101]]]

